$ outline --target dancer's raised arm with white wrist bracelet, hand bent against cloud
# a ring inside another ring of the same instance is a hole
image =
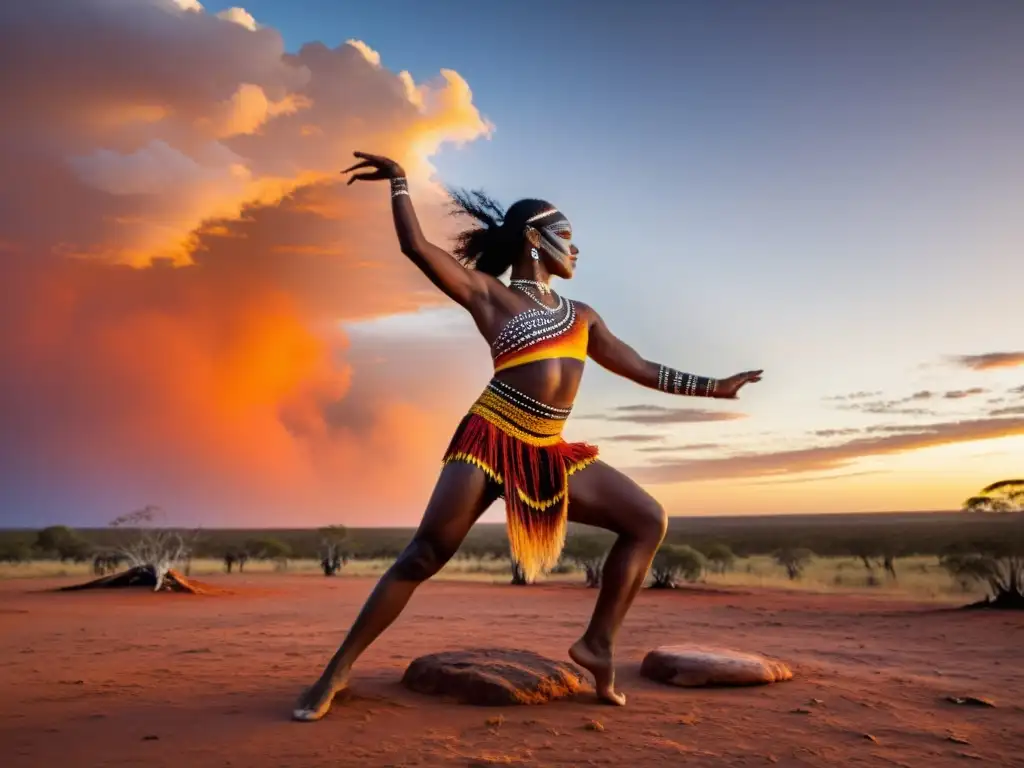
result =
[[[391,183],[391,212],[394,215],[394,229],[398,234],[401,252],[430,279],[430,282],[467,309],[472,309],[485,300],[489,288],[488,278],[467,269],[452,254],[430,243],[420,229],[416,211],[409,198],[409,183],[401,166],[380,155],[365,152],[353,153],[360,162],[342,173],[351,173],[360,168],[370,170],[354,173],[348,179],[353,181],[379,181],[388,179]]]

